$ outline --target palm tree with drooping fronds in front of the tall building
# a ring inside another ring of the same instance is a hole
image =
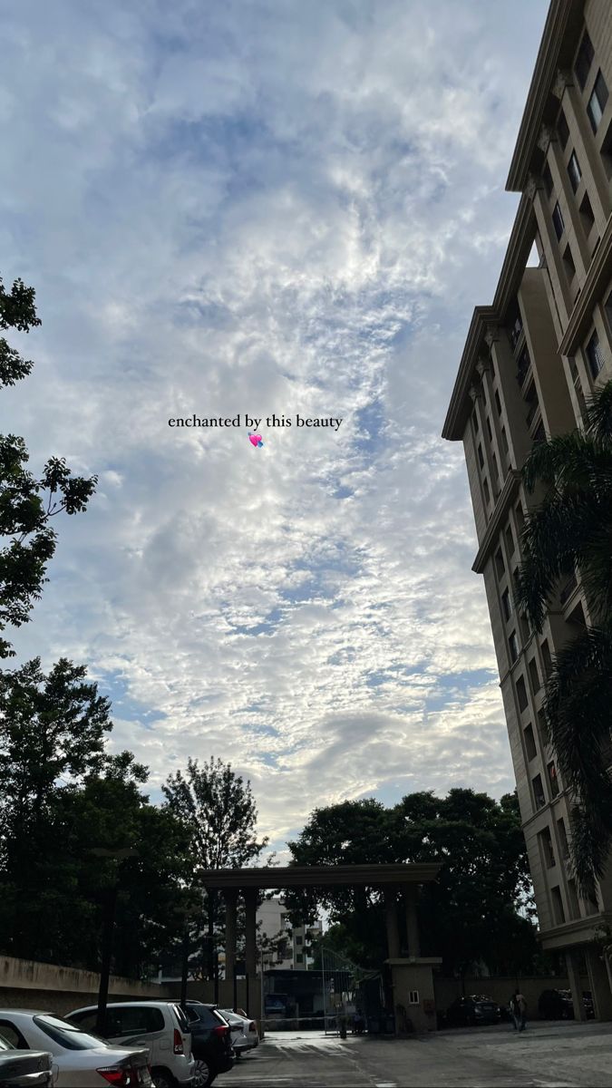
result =
[[[577,571],[591,626],[556,655],[544,714],[556,765],[571,789],[572,862],[580,892],[591,897],[612,841],[612,382],[590,400],[585,431],[534,446],[526,489],[543,499],[523,532],[517,597],[541,631],[559,580]]]

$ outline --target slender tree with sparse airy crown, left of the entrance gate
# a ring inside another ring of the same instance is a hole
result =
[[[250,782],[231,764],[211,757],[203,767],[189,758],[186,772],[170,775],[162,787],[167,807],[181,821],[192,855],[192,886],[201,887],[207,869],[241,868],[267,846],[257,841],[257,807]],[[220,922],[217,897],[208,897],[208,977],[213,976],[216,928]],[[197,919],[193,927],[197,930]]]

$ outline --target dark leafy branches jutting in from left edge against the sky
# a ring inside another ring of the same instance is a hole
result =
[[[28,333],[39,324],[34,288],[15,280],[9,295],[0,280],[0,329]],[[0,338],[0,387],[14,385],[32,367]],[[97,483],[96,477],[73,477],[62,457],[51,457],[40,477],[26,469],[27,461],[23,438],[0,435],[0,537],[4,541],[0,546],[0,631],[9,623],[26,623],[40,596],[57,543],[51,518],[84,510]],[[0,639],[0,658],[11,656],[10,643]]]

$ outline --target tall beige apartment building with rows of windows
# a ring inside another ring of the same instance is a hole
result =
[[[565,955],[584,1016],[612,1018],[612,979],[593,943],[612,924],[612,874],[597,899],[567,866],[571,798],[542,713],[554,654],[589,620],[579,579],[559,585],[543,630],[517,613],[526,512],[521,469],[535,442],[583,424],[585,398],[612,379],[612,3],[553,0],[506,189],[521,193],[490,306],[477,306],[443,436],[462,441],[542,945]],[[534,247],[537,258],[534,260]]]

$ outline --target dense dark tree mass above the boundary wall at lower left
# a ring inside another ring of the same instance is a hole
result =
[[[146,768],[106,753],[109,710],[65,659],[0,675],[0,950],[98,969],[119,880],[114,969],[140,977],[180,929],[191,855],[180,821],[140,793]],[[126,845],[137,854],[119,868],[93,852]]]

